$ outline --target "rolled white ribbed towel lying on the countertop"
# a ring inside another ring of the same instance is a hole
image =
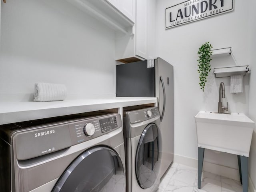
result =
[[[67,89],[62,84],[36,83],[34,101],[62,101],[67,96]]]

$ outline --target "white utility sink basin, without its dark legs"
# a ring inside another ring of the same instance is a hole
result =
[[[246,115],[200,111],[195,120],[198,147],[249,156],[254,122]]]

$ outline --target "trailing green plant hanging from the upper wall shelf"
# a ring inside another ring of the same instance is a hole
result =
[[[208,73],[211,71],[211,64],[210,61],[212,56],[211,51],[212,45],[210,42],[206,42],[205,44],[202,44],[202,46],[198,50],[198,73],[199,73],[199,79],[200,79],[200,87],[202,91],[204,91],[205,83],[207,82],[207,76]]]

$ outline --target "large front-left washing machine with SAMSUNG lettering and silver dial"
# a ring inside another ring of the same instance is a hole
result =
[[[126,190],[120,114],[6,124],[0,136],[1,192]]]

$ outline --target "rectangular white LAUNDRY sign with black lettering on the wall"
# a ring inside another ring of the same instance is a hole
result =
[[[166,8],[165,28],[230,12],[233,7],[233,0],[188,0]]]

